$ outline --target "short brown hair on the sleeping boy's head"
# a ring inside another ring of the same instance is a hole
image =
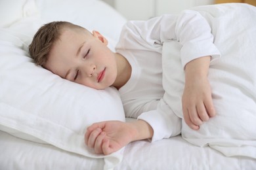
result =
[[[33,41],[29,46],[30,56],[34,59],[36,65],[45,65],[54,42],[60,39],[64,28],[88,31],[84,27],[70,22],[50,22],[43,25],[39,28],[37,33],[35,33]]]

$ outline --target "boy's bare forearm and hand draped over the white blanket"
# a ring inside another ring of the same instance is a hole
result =
[[[194,59],[185,68],[186,80],[182,95],[184,121],[192,129],[215,116],[211,86],[207,79],[210,56]]]

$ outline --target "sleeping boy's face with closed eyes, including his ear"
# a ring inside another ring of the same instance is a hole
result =
[[[54,74],[90,88],[104,89],[116,80],[117,65],[108,41],[97,31],[62,31],[54,42],[47,63]]]

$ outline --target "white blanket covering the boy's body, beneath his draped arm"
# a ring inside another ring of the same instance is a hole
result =
[[[226,156],[256,159],[256,8],[243,4],[197,7],[215,36],[221,58],[213,60],[209,81],[217,116],[198,131],[182,121],[182,137],[198,146],[208,145]],[[182,116],[184,70],[179,42],[163,44],[164,99]]]

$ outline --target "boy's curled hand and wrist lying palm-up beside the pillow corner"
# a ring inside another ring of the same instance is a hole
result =
[[[85,133],[85,144],[96,154],[111,154],[132,141],[150,139],[152,127],[143,120],[134,122],[106,121],[89,126]]]

